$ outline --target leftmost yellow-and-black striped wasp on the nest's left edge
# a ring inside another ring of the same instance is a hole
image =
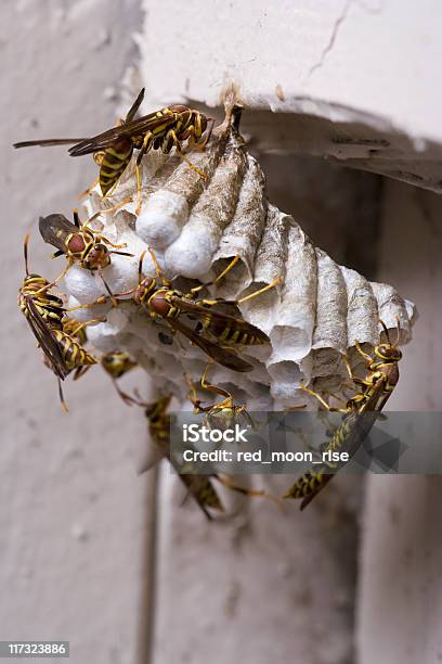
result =
[[[96,360],[78,343],[72,331],[65,331],[65,314],[63,301],[50,293],[55,282],[49,282],[39,274],[31,274],[28,268],[28,241],[24,242],[26,276],[18,290],[18,306],[29,323],[38,345],[41,347],[46,365],[55,373],[58,381],[58,392],[62,405],[67,409],[61,381],[72,371],[75,378],[83,373]],[[84,328],[87,323],[77,324]]]

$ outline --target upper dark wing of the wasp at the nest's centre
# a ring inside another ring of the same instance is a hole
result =
[[[259,328],[256,328],[251,323],[248,323],[243,318],[236,318],[235,316],[230,316],[229,314],[222,314],[221,311],[217,311],[211,307],[207,307],[191,299],[186,299],[185,297],[179,297],[178,295],[170,296],[171,304],[174,304],[178,309],[188,311],[207,324],[207,329],[214,336],[222,335],[226,329],[229,331],[238,331],[238,341],[236,343],[240,344],[240,337],[243,335],[247,335],[248,337],[253,336],[259,343],[266,344],[270,339],[268,335],[262,332]],[[222,301],[220,302],[222,304]],[[230,341],[226,339],[226,341]]]

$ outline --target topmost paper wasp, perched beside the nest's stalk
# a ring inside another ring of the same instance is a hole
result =
[[[172,148],[183,155],[184,141],[187,146],[197,145],[204,149],[210,138],[214,119],[208,118],[199,111],[194,111],[181,104],[166,106],[160,111],[150,113],[138,119],[134,116],[143,101],[144,88],[133,102],[126,119],[119,126],[107,129],[98,136],[87,139],[46,139],[14,143],[14,148],[28,148],[30,145],[66,145],[76,143],[69,149],[70,156],[93,154],[100,166],[99,182],[103,196],[105,196],[118,182],[132,158],[133,150],[139,150],[136,156],[136,181],[140,191],[139,166],[145,154],[151,150],[160,150],[168,154]],[[204,137],[208,124],[211,124],[207,136]],[[190,166],[202,174],[192,163]]]

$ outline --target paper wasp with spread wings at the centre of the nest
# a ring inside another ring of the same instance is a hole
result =
[[[132,294],[134,303],[143,307],[152,318],[165,320],[173,332],[180,332],[186,336],[214,361],[234,371],[250,371],[252,366],[249,362],[220,344],[265,344],[269,342],[268,335],[251,323],[246,322],[243,318],[213,310],[212,307],[219,304],[237,305],[246,299],[251,299],[273,288],[280,280],[275,280],[239,301],[197,299],[197,293],[210,284],[202,284],[191,289],[185,294],[174,290],[170,281],[162,277],[153,251],[151,248],[148,251],[156,268],[156,279],[154,277],[143,277],[142,266],[146,253],[143,252],[139,261],[139,285],[131,291],[114,295],[114,297]],[[211,283],[219,282],[236,263],[237,257]],[[180,320],[180,317],[184,314],[197,319],[198,323],[195,330]],[[208,335],[211,335],[217,343],[210,341]]]

